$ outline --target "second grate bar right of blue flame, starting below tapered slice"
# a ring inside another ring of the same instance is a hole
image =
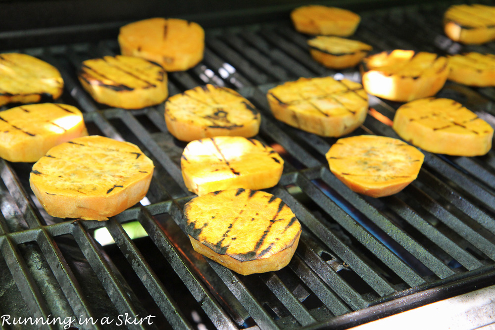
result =
[[[483,266],[475,257],[467,253],[456,243],[439,232],[426,220],[421,218],[412,208],[397,197],[386,197],[384,200],[387,207],[396,212],[404,221],[411,224],[421,234],[428,237],[432,242],[437,244],[441,249],[446,251],[450,256],[457,260],[468,270],[477,269]]]

